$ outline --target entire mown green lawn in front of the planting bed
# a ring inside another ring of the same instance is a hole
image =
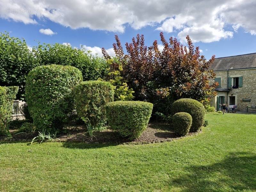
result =
[[[0,191],[256,191],[256,115],[166,143],[0,143]]]

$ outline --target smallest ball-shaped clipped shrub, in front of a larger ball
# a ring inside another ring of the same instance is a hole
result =
[[[180,136],[188,134],[192,124],[192,116],[186,112],[175,113],[172,116],[173,131]]]

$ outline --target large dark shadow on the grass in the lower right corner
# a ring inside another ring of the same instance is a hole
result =
[[[183,191],[243,191],[256,190],[256,155],[230,153],[219,163],[191,166],[189,173],[170,181],[170,185],[185,187]]]

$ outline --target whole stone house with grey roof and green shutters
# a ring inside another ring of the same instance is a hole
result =
[[[217,96],[211,98],[210,105],[222,110],[219,104],[225,103],[236,110],[256,111],[256,53],[216,58],[210,67],[216,74]]]

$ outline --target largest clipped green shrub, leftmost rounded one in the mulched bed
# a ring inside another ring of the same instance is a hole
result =
[[[26,101],[38,130],[61,128],[74,111],[73,90],[83,80],[72,66],[45,65],[32,69],[26,79]]]

